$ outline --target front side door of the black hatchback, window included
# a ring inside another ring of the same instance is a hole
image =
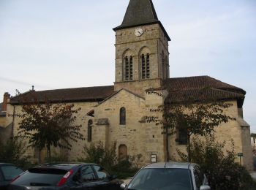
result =
[[[99,165],[92,165],[97,175],[97,190],[118,190],[120,189],[119,180],[112,180],[107,170]]]

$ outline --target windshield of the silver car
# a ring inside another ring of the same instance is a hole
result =
[[[135,175],[128,189],[192,190],[192,179],[188,169],[145,168]]]

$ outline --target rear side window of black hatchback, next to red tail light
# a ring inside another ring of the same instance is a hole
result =
[[[75,176],[73,177],[73,180],[78,181],[79,183],[96,180],[94,175],[94,170],[92,170],[91,166],[82,167],[75,174]]]

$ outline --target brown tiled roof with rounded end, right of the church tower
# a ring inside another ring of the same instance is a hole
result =
[[[163,82],[169,92],[165,102],[203,101],[209,99],[244,99],[246,91],[208,76],[169,78]]]

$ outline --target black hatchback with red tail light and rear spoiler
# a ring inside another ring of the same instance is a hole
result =
[[[97,164],[44,164],[24,172],[10,183],[9,189],[118,190],[121,183]]]

